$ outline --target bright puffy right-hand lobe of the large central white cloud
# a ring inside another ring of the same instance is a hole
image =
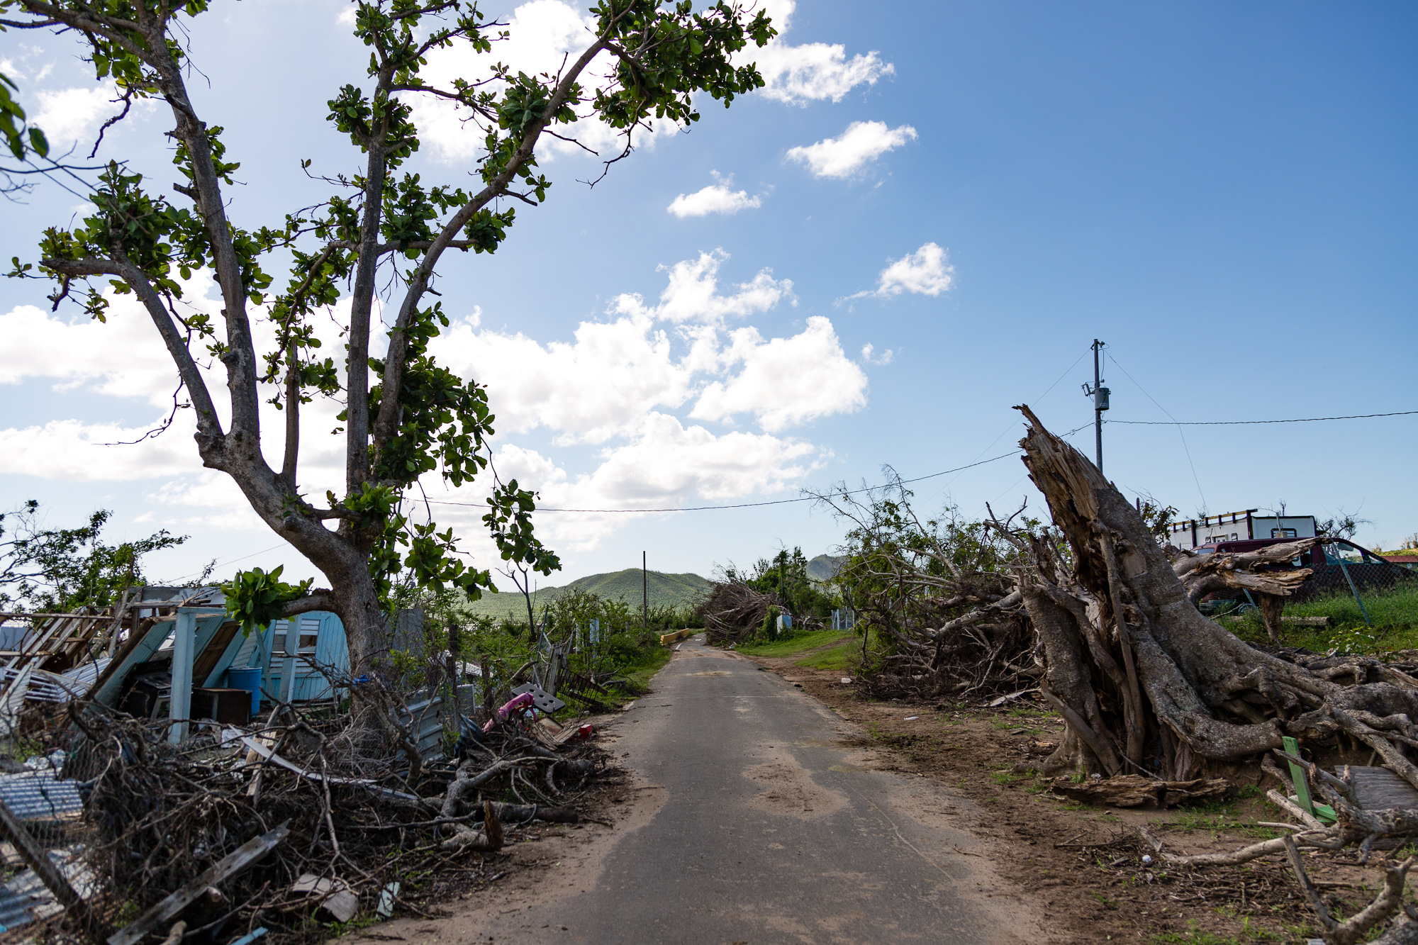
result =
[[[793,338],[763,341],[756,328],[730,335],[725,360],[742,363],[732,379],[705,387],[696,420],[725,420],[752,413],[770,433],[866,404],[866,375],[842,352],[832,322],[821,315]]]

